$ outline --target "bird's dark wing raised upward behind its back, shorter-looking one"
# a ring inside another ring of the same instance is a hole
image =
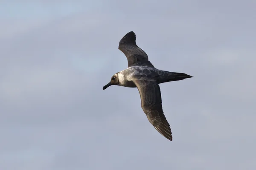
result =
[[[128,67],[135,65],[154,67],[154,65],[148,61],[148,55],[145,51],[136,45],[136,35],[133,31],[128,32],[120,40],[118,49],[125,54],[128,60]]]

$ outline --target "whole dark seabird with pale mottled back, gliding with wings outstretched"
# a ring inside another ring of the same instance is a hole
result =
[[[148,121],[165,138],[172,141],[171,127],[163,113],[159,84],[191,78],[185,73],[159,70],[148,60],[148,55],[136,44],[136,35],[130,31],[119,41],[118,49],[125,54],[128,68],[111,77],[103,90],[111,85],[137,88],[140,93],[141,108]]]

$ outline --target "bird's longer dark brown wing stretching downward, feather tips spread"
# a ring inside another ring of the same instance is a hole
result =
[[[164,137],[172,141],[172,132],[163,114],[161,91],[155,81],[133,80],[140,92],[141,107],[149,122]]]

